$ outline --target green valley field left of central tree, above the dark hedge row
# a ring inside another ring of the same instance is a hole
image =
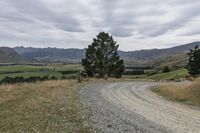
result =
[[[44,66],[34,65],[11,65],[0,66],[0,80],[4,77],[23,76],[25,78],[31,76],[55,76],[61,78],[62,76],[76,75],[78,71],[83,70],[80,64],[49,64]]]

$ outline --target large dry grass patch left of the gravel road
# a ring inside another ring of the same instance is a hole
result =
[[[89,132],[76,81],[0,86],[0,132]]]

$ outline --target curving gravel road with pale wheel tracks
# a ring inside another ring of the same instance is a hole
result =
[[[93,83],[80,94],[93,113],[97,132],[200,133],[200,110],[152,93],[158,83]]]

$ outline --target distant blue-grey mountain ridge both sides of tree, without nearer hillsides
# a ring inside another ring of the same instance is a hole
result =
[[[119,51],[121,58],[126,64],[149,64],[152,61],[163,60],[173,55],[185,54],[200,42],[188,43],[166,49],[149,49],[137,51]],[[14,50],[22,57],[38,61],[61,61],[61,62],[80,62],[85,57],[86,49],[59,49],[59,48],[32,48],[32,47],[15,47]],[[183,58],[185,56],[180,56]],[[176,57],[177,58],[177,57]],[[175,59],[175,58],[174,58]],[[184,60],[184,59],[183,59]],[[159,63],[158,63],[159,64]]]

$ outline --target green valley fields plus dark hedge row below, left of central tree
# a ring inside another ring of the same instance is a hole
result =
[[[0,83],[75,79],[82,71],[80,64],[9,65],[0,66]],[[20,80],[21,79],[21,80]]]

